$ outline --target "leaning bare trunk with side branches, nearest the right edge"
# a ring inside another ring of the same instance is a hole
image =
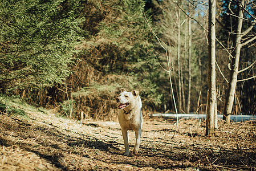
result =
[[[241,5],[243,6],[245,0],[241,1]],[[237,74],[238,74],[238,65],[239,65],[239,58],[240,58],[240,51],[241,51],[241,38],[242,38],[242,25],[243,25],[243,10],[239,7],[239,14],[238,14],[238,24],[237,24],[237,33],[235,34],[235,50],[232,54],[234,58],[232,59],[231,63],[231,71],[230,71],[230,78],[229,78],[229,89],[227,91],[224,112],[223,112],[223,119],[230,123],[230,115],[233,108],[234,97],[235,97],[235,87],[237,86]]]

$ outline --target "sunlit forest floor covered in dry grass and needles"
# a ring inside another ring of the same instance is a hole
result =
[[[256,122],[224,124],[145,117],[140,153],[123,156],[118,123],[63,119],[46,112],[0,114],[0,170],[256,170]],[[129,132],[130,150],[135,135]],[[173,137],[173,138],[172,138]]]

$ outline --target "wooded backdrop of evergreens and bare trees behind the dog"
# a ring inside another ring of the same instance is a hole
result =
[[[218,112],[224,112],[229,96],[236,37],[242,35],[231,113],[254,115],[254,1],[216,6]],[[0,18],[1,96],[17,96],[68,118],[80,119],[83,112],[86,119],[113,120],[119,89],[136,89],[144,115],[174,113],[169,62],[178,112],[206,112],[208,1],[3,0]]]

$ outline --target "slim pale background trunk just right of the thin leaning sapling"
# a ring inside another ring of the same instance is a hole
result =
[[[178,9],[177,13],[177,19],[178,19],[178,112],[182,111],[182,97],[181,97],[181,63],[180,63],[180,46],[181,46],[181,40],[180,40],[180,9]]]

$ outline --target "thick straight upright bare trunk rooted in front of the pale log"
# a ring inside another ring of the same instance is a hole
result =
[[[214,111],[216,105],[216,48],[215,48],[216,0],[209,0],[209,64],[208,64],[208,103],[206,110],[206,136],[214,136]]]

